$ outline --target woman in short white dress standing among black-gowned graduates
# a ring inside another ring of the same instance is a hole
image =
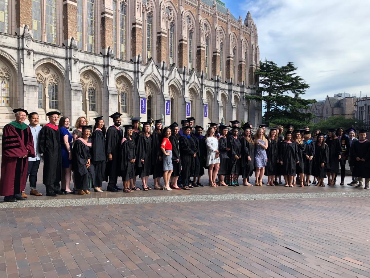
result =
[[[206,164],[208,166],[208,177],[209,186],[217,187],[216,178],[218,169],[220,168],[220,153],[218,151],[218,140],[215,136],[215,129],[208,128],[207,134],[205,136],[207,145],[207,160]]]

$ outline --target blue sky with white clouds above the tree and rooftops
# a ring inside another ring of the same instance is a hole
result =
[[[260,59],[293,62],[310,85],[305,99],[334,93],[370,96],[370,1],[224,0],[258,29]]]

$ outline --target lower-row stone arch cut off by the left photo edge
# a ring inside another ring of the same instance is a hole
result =
[[[13,61],[0,53],[0,112],[12,113],[18,106],[18,76]]]

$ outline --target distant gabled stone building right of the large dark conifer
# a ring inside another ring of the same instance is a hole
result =
[[[345,116],[346,119],[350,119],[355,116],[355,103],[356,97],[326,96],[325,100],[313,103],[307,112],[311,112],[315,116],[312,119],[314,123],[319,122],[320,119],[327,120],[331,116]]]

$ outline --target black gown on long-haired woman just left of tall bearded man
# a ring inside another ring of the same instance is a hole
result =
[[[105,138],[103,132],[96,129],[91,136],[92,139],[92,159],[94,164],[94,186],[101,187],[103,183],[105,166],[107,165],[107,153],[105,152]]]

